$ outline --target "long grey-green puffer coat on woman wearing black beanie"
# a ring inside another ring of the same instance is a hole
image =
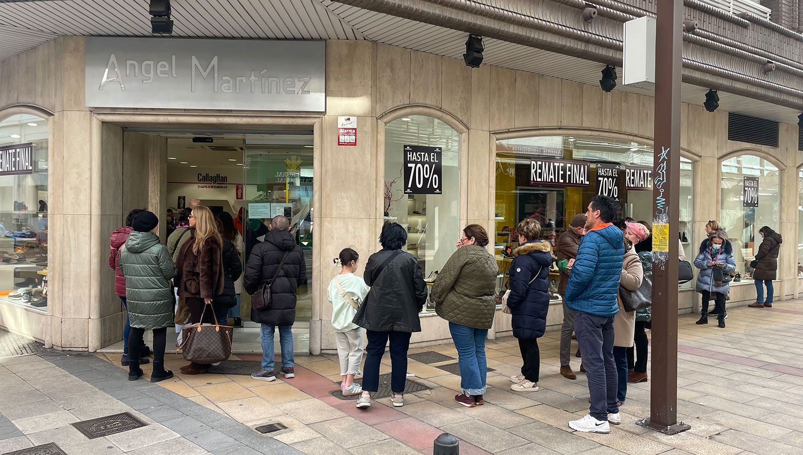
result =
[[[173,291],[168,280],[176,267],[153,232],[132,232],[120,252],[125,276],[128,320],[133,328],[163,328],[173,324]]]

